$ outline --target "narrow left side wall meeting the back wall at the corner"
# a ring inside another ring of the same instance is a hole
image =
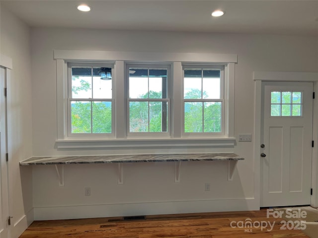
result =
[[[0,50],[13,62],[8,88],[8,153],[11,237],[33,221],[32,169],[19,161],[32,156],[30,29],[1,6]]]

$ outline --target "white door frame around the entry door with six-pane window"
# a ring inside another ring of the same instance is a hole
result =
[[[254,199],[260,207],[260,144],[262,141],[263,112],[262,106],[263,91],[262,86],[265,81],[273,82],[313,82],[314,92],[317,92],[313,104],[313,140],[316,142],[312,155],[312,188],[318,187],[318,72],[271,72],[254,71]],[[318,207],[318,189],[313,190],[311,205]]]

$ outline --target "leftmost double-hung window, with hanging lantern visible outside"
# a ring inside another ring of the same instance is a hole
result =
[[[69,63],[69,135],[113,134],[112,65]]]

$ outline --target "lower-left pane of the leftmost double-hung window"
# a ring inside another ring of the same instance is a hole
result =
[[[72,133],[91,133],[90,102],[71,102]]]

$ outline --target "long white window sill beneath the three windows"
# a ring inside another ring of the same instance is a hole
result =
[[[112,140],[82,140],[64,139],[56,140],[57,149],[93,149],[93,148],[211,148],[211,147],[234,147],[235,137],[226,138],[178,138],[178,139],[112,139]]]

